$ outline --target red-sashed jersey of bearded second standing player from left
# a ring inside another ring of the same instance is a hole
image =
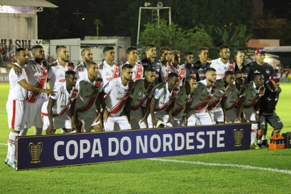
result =
[[[28,60],[25,66],[25,71],[28,77],[28,82],[38,88],[47,89],[47,79],[49,72],[49,64],[43,61],[42,64],[36,63],[33,59]],[[30,103],[44,103],[48,99],[46,93],[38,93],[28,91],[26,101]]]

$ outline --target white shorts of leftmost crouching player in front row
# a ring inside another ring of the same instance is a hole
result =
[[[43,129],[46,130],[49,127],[49,117],[42,114],[43,120]],[[55,129],[65,128],[71,129],[71,120],[67,113],[62,114],[61,116],[53,116],[53,126]]]

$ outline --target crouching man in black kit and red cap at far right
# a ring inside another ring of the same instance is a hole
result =
[[[283,123],[279,116],[275,113],[275,108],[281,93],[279,87],[280,77],[277,74],[272,74],[270,80],[266,82],[265,95],[261,99],[261,106],[259,109],[259,129],[265,130],[266,123],[269,123],[273,127],[272,136],[280,133],[283,128]],[[261,142],[262,134],[258,131],[258,146],[268,146],[267,140],[265,143]]]

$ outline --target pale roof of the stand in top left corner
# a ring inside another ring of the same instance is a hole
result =
[[[0,0],[0,5],[52,8],[58,7],[46,0]]]

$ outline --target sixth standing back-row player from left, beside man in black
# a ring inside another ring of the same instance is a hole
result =
[[[132,67],[132,81],[143,79],[144,67],[137,62],[137,49],[135,47],[129,47],[126,49],[128,61],[125,64],[129,64]]]

